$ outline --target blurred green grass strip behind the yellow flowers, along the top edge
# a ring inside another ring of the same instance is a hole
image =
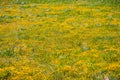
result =
[[[29,4],[29,3],[71,3],[71,2],[81,2],[81,1],[89,1],[92,3],[100,3],[104,5],[120,5],[120,0],[6,0],[2,1],[1,3],[14,3],[14,4]]]

